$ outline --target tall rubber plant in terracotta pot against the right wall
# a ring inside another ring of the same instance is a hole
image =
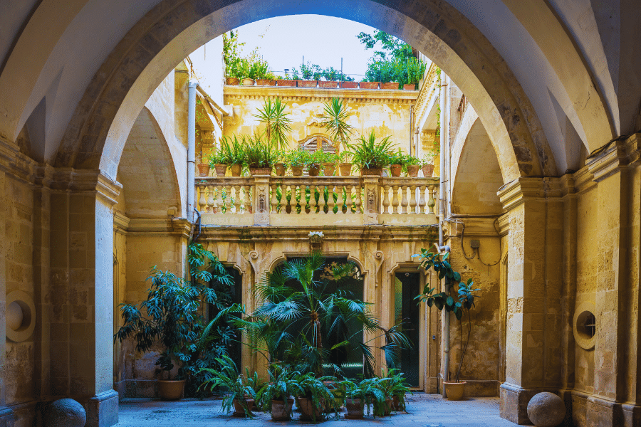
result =
[[[447,378],[444,381],[445,394],[447,394],[447,399],[449,400],[460,400],[463,396],[465,381],[461,381],[461,369],[463,367],[463,361],[465,358],[465,353],[467,352],[467,346],[469,344],[469,338],[471,336],[471,315],[470,310],[474,305],[474,292],[479,289],[473,289],[474,282],[470,279],[467,282],[461,281],[461,273],[454,271],[452,265],[450,265],[447,258],[449,253],[432,253],[427,251],[427,249],[421,249],[421,253],[414,256],[420,257],[421,266],[428,270],[433,268],[434,272],[437,273],[440,279],[444,279],[445,290],[443,292],[434,293],[436,288],[430,288],[429,283],[425,285],[423,293],[417,295],[416,298],[422,302],[426,302],[428,307],[437,307],[438,310],[446,310],[447,312],[454,312],[454,315],[457,317],[460,323],[461,330],[461,359],[459,360],[459,366],[457,368],[457,374],[454,378],[454,381],[448,381],[449,372],[446,373]],[[457,295],[454,297],[451,295],[454,290],[454,285],[458,286]],[[463,325],[462,317],[467,313],[467,337],[463,339]]]

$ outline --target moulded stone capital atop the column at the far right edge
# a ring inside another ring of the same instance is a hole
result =
[[[630,135],[627,139],[608,142],[588,156],[585,165],[593,174],[595,182],[612,176],[620,169],[640,161],[641,133]]]

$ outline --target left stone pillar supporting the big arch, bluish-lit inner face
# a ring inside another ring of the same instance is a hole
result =
[[[51,183],[51,394],[118,423],[113,390],[113,213],[120,184],[99,171],[58,170]]]

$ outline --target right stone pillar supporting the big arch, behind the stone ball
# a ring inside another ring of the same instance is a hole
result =
[[[518,424],[528,423],[527,404],[534,394],[560,383],[563,205],[558,187],[558,179],[521,177],[499,191],[509,214],[506,381],[500,413]]]

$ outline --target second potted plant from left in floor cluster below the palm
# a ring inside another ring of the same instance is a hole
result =
[[[274,421],[291,420],[291,408],[293,399],[291,396],[300,396],[301,386],[296,378],[301,374],[296,371],[289,371],[272,364],[269,369],[269,384],[262,389],[256,399],[264,408],[271,408],[271,419]]]

